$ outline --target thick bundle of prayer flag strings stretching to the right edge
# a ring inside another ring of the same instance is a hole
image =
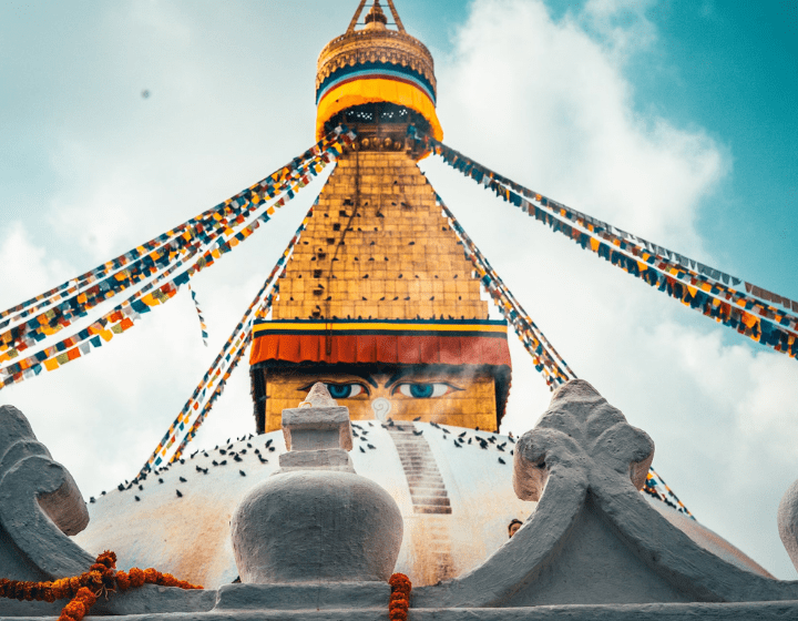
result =
[[[651,286],[739,334],[798,356],[798,303],[572,210],[478,164],[432,138],[429,150],[463,175]],[[730,285],[729,285],[730,283]],[[738,291],[737,285],[744,285]],[[777,308],[769,304],[777,303]]]

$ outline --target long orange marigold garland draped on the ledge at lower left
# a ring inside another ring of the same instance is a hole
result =
[[[69,603],[61,610],[58,621],[82,621],[100,595],[108,597],[108,593],[117,589],[124,592],[143,584],[202,589],[202,587],[177,580],[171,573],[161,573],[153,568],[141,570],[134,567],[129,572],[116,571],[116,554],[106,550],[96,558],[89,571],[72,578],[61,578],[52,582],[27,582],[2,578],[0,579],[0,597],[50,603],[70,598]]]

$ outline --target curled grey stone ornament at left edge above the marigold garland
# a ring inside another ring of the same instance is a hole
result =
[[[68,535],[89,511],[66,469],[37,440],[24,415],[0,407],[0,578],[52,580],[94,562]]]

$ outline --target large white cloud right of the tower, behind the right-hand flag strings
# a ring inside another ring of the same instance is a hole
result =
[[[640,109],[630,67],[654,2],[481,0],[438,65],[446,142],[574,208],[708,264],[702,205],[733,174],[700,129]],[[652,61],[654,62],[654,61]],[[659,61],[656,61],[659,62]],[[657,442],[655,467],[698,519],[795,578],[775,525],[798,458],[795,360],[751,345],[554,235],[434,159],[439,194],[572,368]],[[723,267],[723,266],[719,266]],[[513,343],[504,428],[548,406]]]

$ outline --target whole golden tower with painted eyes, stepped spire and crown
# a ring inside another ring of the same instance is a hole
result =
[[[345,124],[338,160],[254,327],[258,431],[280,427],[315,381],[352,419],[419,419],[497,429],[510,386],[507,325],[488,318],[480,283],[419,170],[419,134],[440,140],[427,48],[388,0],[321,51],[316,134]],[[389,26],[393,26],[391,29]]]

